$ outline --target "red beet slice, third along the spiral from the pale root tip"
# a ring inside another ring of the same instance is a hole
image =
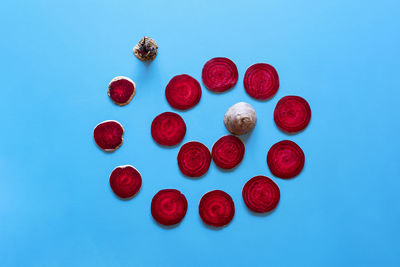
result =
[[[183,140],[185,134],[185,121],[173,112],[161,113],[154,118],[151,124],[151,136],[160,145],[177,145]]]

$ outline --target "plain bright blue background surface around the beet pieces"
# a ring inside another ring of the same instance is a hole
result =
[[[0,260],[2,266],[399,266],[399,2],[396,0],[6,1],[0,11]],[[133,46],[159,44],[149,64]],[[212,57],[231,58],[236,87],[203,87],[200,103],[179,112],[184,142],[209,148],[227,134],[232,104],[254,106],[258,124],[232,172],[212,163],[198,180],[183,177],[179,147],[157,146],[152,119],[170,111],[164,88],[187,73],[201,81]],[[276,67],[281,86],[266,102],[243,88],[257,62]],[[131,77],[126,107],[107,96],[115,76]],[[285,95],[312,108],[308,128],[289,136],[273,122]],[[106,154],[93,127],[115,119],[125,143]],[[295,179],[271,175],[266,154],[282,139],[306,155]],[[117,199],[108,185],[117,165],[143,176],[140,193]],[[244,183],[267,175],[279,185],[275,212],[256,216]],[[165,229],[150,215],[153,195],[177,188],[189,209]],[[207,228],[197,205],[210,190],[231,194],[228,227]]]

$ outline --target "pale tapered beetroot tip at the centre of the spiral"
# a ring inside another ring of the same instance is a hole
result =
[[[224,123],[229,132],[242,135],[256,126],[257,116],[253,107],[245,102],[231,106],[224,116]]]

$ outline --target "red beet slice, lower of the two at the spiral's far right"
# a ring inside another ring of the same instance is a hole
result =
[[[304,167],[304,153],[292,141],[283,140],[274,144],[268,151],[267,163],[272,174],[280,178],[293,178]]]

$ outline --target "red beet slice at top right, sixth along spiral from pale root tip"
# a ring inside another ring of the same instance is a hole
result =
[[[253,98],[266,100],[276,94],[279,77],[275,68],[266,63],[250,66],[244,75],[244,88]]]

